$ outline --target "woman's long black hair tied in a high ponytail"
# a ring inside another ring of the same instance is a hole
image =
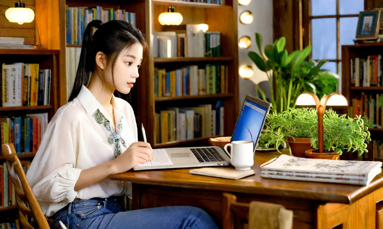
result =
[[[113,76],[113,67],[119,53],[136,43],[142,45],[145,58],[147,44],[144,35],[139,29],[134,28],[131,23],[120,20],[112,20],[106,23],[100,20],[91,21],[84,31],[79,66],[77,67],[73,89],[68,102],[79,95],[82,85],[88,84],[89,73],[96,70],[97,52],[106,55],[106,66],[111,69]],[[101,80],[103,80],[102,77]]]

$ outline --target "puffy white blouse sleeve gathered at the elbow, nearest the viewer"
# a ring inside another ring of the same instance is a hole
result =
[[[74,118],[76,112],[70,110],[58,111],[52,118],[28,169],[27,178],[38,200],[69,203],[77,196],[74,186],[81,169],[75,165],[82,127],[81,119]]]

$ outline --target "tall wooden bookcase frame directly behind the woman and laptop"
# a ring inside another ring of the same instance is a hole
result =
[[[237,47],[237,1],[226,0],[224,5],[199,2],[183,2],[168,0],[61,0],[61,5],[65,9],[68,7],[100,6],[103,9],[113,8],[113,10],[126,10],[135,13],[136,27],[145,35],[149,45],[147,60],[139,69],[140,77],[137,79],[135,87],[131,92],[131,105],[136,114],[137,127],[140,130],[141,123],[144,125],[147,141],[155,148],[169,147],[185,144],[206,143],[210,137],[203,136],[188,140],[176,140],[171,142],[155,142],[157,137],[154,131],[156,113],[166,110],[169,107],[198,106],[200,104],[210,104],[212,107],[222,101],[224,106],[224,134],[231,135],[234,130],[235,120],[238,116],[239,107],[238,95],[238,47]],[[167,11],[172,5],[176,11],[183,16],[183,22],[179,26],[162,26],[158,21],[160,13]],[[61,20],[60,30],[62,40],[66,39],[66,10],[60,11]],[[201,17],[201,15],[205,15]],[[155,55],[154,38],[156,32],[176,31],[185,33],[187,24],[208,24],[208,31],[218,31],[221,33],[221,55],[204,57],[158,57]],[[61,46],[61,53],[65,53],[66,48],[81,48],[80,44],[65,44]],[[204,68],[205,65],[224,65],[227,66],[227,91],[217,94],[196,94],[180,96],[155,96],[155,71],[156,69],[166,69],[175,71],[191,65]],[[65,63],[64,65],[65,66]],[[68,86],[69,87],[69,86]],[[139,131],[139,140],[142,140]]]

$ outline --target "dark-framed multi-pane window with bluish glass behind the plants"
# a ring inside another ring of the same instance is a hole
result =
[[[329,60],[322,69],[340,76],[342,45],[354,44],[359,12],[364,10],[364,0],[308,0],[308,19],[311,28],[311,58]]]

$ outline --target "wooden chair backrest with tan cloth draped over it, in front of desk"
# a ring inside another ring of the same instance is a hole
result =
[[[222,211],[222,228],[223,229],[234,229],[234,215],[236,216],[237,221],[237,228],[242,228],[242,220],[243,221],[249,221],[249,213],[250,213],[250,205],[251,206],[261,206],[257,207],[257,209],[262,209],[268,212],[271,212],[270,210],[278,209],[280,208],[280,212],[278,215],[274,215],[275,218],[277,218],[277,224],[274,224],[273,226],[277,225],[276,228],[292,228],[292,220],[293,220],[293,212],[291,210],[286,210],[282,205],[272,204],[272,203],[264,203],[264,202],[256,202],[253,201],[251,203],[239,203],[237,202],[237,197],[235,195],[229,194],[229,193],[223,193],[223,211]],[[265,208],[264,208],[265,207]],[[271,208],[270,208],[271,207]],[[254,208],[252,208],[254,209]],[[259,212],[258,212],[259,213]],[[281,214],[282,213],[282,214]],[[250,213],[251,214],[251,213]],[[252,222],[254,222],[254,212],[252,216],[250,216],[250,219],[252,219]],[[265,214],[264,216],[267,216]],[[271,216],[270,214],[268,216]],[[260,219],[260,218],[258,218]],[[269,218],[271,219],[271,218]],[[251,221],[251,220],[250,220]],[[270,220],[267,220],[270,222]],[[260,220],[259,222],[262,222]],[[262,226],[264,226],[262,224]],[[247,227],[248,229],[258,229],[257,227],[251,225],[249,222],[249,225]],[[263,227],[262,227],[263,228]],[[264,227],[264,228],[274,228],[274,227]]]

